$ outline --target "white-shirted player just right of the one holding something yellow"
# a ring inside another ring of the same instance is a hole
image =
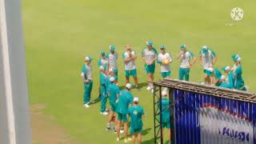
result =
[[[190,80],[190,68],[197,61],[194,58],[194,54],[188,50],[186,50],[186,45],[181,46],[181,51],[178,54],[177,60],[180,59],[179,66],[179,80],[183,80],[185,78],[186,81]]]

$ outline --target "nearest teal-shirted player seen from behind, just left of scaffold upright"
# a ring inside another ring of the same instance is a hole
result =
[[[138,144],[142,142],[142,117],[144,110],[142,106],[138,106],[138,97],[134,98],[134,106],[130,106],[128,115],[130,116],[130,134],[132,135],[132,143],[135,144],[138,137]]]

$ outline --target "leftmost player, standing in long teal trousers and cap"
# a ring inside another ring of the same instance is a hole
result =
[[[93,78],[92,78],[92,66],[90,62],[92,61],[92,58],[86,57],[85,58],[85,64],[82,66],[82,80],[84,84],[84,94],[83,94],[83,106],[85,108],[89,108],[90,104],[90,93],[93,88]]]

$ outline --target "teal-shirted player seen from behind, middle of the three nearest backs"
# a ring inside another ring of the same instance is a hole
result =
[[[128,107],[133,102],[133,94],[130,93],[131,84],[126,84],[126,90],[122,90],[120,96],[118,97],[118,106],[116,112],[118,114],[118,126],[117,126],[117,141],[120,140],[120,127],[121,123],[124,123],[124,134],[125,142],[128,142]]]

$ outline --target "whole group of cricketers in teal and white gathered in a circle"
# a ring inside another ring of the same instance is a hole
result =
[[[188,46],[180,46],[180,52],[177,55],[177,60],[180,61],[179,66],[179,79],[189,81],[190,69],[197,62],[198,58],[194,57],[194,54],[187,50]],[[126,86],[124,90],[120,90],[118,86],[118,53],[115,51],[115,46],[109,47],[109,53],[101,51],[101,57],[98,59],[98,67],[100,70],[100,100],[101,110],[100,114],[107,115],[106,101],[109,98],[110,102],[110,114],[106,126],[106,130],[113,129],[117,134],[117,141],[120,140],[120,132],[125,134],[125,142],[130,141],[128,138],[128,117],[130,117],[130,134],[132,135],[132,142],[135,143],[135,138],[138,137],[138,143],[142,140],[142,117],[144,116],[144,110],[142,106],[139,106],[139,98],[134,97],[131,93],[133,86],[130,84],[130,76],[134,78],[134,88],[139,90],[138,77],[135,61],[137,54],[132,50],[132,46],[127,45],[126,50],[122,53],[122,60],[125,66]],[[233,54],[232,59],[234,66],[224,66],[222,70],[225,74],[222,74],[218,68],[214,67],[218,58],[214,50],[211,50],[208,46],[202,46],[199,51],[199,61],[202,66],[204,76],[203,84],[221,86],[223,88],[246,90],[245,82],[242,78],[242,58],[238,54]],[[154,48],[152,41],[146,41],[146,47],[142,50],[142,61],[146,70],[148,78],[148,86],[146,90],[154,91],[154,71],[155,63],[160,65],[160,71],[162,78],[170,78],[171,70],[170,63],[173,62],[173,58],[170,53],[166,52],[166,46],[160,46],[160,53]],[[84,83],[84,104],[85,108],[89,108],[90,93],[93,87],[92,81],[92,58],[86,56],[85,63],[82,66],[82,78]],[[167,89],[162,90],[162,107],[169,106],[169,99],[166,98]],[[114,119],[114,126],[111,126],[111,122]],[[121,130],[123,126],[124,130]],[[169,130],[170,133],[170,110],[166,109],[162,113],[162,126]]]

